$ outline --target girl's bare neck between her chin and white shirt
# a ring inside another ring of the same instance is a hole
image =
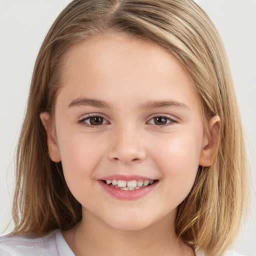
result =
[[[62,233],[76,256],[194,255],[177,239],[173,216],[168,215],[141,230],[118,230],[85,211],[76,226]]]

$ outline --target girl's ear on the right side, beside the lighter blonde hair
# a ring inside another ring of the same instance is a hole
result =
[[[209,132],[204,132],[202,150],[199,159],[199,165],[210,166],[215,158],[219,136],[220,119],[218,115],[209,120]]]

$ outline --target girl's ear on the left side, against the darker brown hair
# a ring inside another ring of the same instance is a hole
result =
[[[55,138],[55,131],[53,130],[53,125],[49,113],[40,113],[40,119],[47,133],[47,145],[50,159],[54,162],[59,162],[61,160],[60,153]]]

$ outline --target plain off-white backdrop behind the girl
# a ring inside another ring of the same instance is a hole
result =
[[[32,69],[50,25],[69,0],[0,0],[0,235],[11,220],[14,151]],[[256,255],[256,0],[196,0],[229,58],[251,164],[251,209],[235,250]],[[32,185],[32,184],[31,184]]]

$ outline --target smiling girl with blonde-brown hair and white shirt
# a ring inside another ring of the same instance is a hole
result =
[[[246,157],[192,0],[74,0],[38,53],[1,255],[235,255]]]

